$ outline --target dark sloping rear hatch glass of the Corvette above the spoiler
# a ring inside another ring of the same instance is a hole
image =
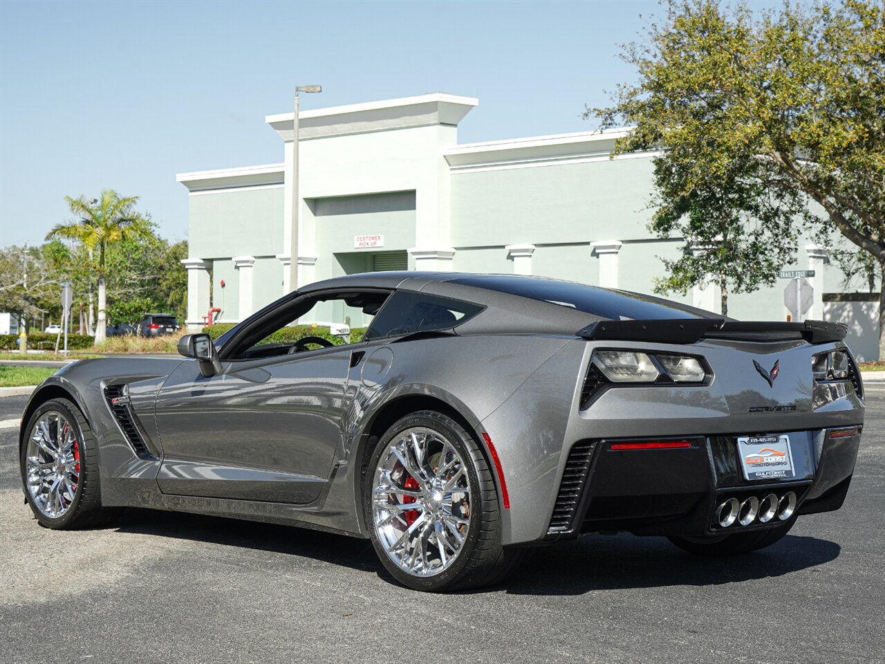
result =
[[[530,297],[609,320],[706,318],[704,312],[658,297],[606,290],[582,283],[507,275],[481,275],[450,280],[465,286]]]

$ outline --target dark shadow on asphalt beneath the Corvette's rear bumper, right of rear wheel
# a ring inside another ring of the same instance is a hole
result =
[[[788,535],[757,552],[707,558],[682,552],[664,537],[588,535],[529,552],[501,588],[516,595],[581,595],[742,583],[823,565],[841,550],[825,539]]]

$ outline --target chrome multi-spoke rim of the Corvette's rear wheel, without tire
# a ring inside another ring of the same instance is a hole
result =
[[[470,477],[455,446],[434,429],[405,429],[381,452],[375,468],[375,536],[407,574],[437,575],[465,543],[470,499]]]

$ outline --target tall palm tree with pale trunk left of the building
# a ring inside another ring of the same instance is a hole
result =
[[[135,212],[137,196],[120,197],[113,189],[104,189],[100,199],[87,201],[85,197],[65,196],[67,205],[77,219],[65,224],[56,224],[46,235],[46,239],[64,238],[81,243],[89,255],[96,257],[98,276],[98,321],[96,324],[96,344],[104,341],[106,316],[104,313],[107,294],[105,291],[104,270],[108,245],[150,235],[150,220]]]

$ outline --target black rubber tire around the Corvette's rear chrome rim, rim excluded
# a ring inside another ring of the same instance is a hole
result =
[[[449,567],[432,576],[411,575],[398,567],[379,541],[373,526],[373,478],[381,461],[381,454],[397,434],[412,427],[433,429],[452,444],[464,460],[470,485],[478,488],[480,498],[477,501],[471,497],[473,509],[469,514],[467,535],[458,554]],[[480,509],[475,509],[477,505]],[[495,479],[489,464],[475,438],[458,421],[443,413],[434,411],[412,413],[397,421],[384,436],[381,436],[366,470],[363,507],[366,527],[381,564],[396,578],[396,581],[417,591],[460,591],[498,583],[519,564],[525,552],[524,549],[505,548],[501,545],[501,513]]]

